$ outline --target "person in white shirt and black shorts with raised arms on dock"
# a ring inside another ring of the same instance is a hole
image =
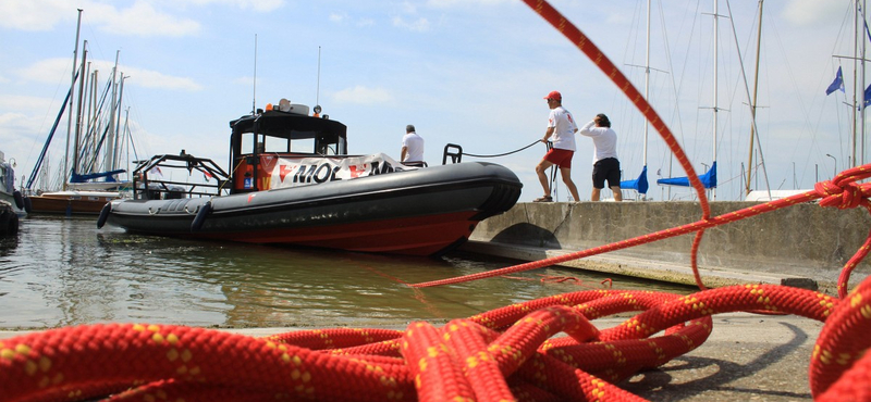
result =
[[[611,128],[611,121],[603,113],[593,117],[580,129],[581,136],[592,138],[592,196],[590,200],[599,201],[600,193],[608,187],[614,192],[614,201],[623,201],[619,192],[619,161],[617,160],[617,133]]]

